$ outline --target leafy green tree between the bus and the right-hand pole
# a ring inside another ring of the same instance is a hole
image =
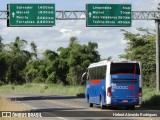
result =
[[[139,60],[142,63],[142,78],[145,86],[155,87],[156,78],[156,35],[154,30],[138,28],[138,33],[122,30],[127,41],[125,54],[121,58]]]

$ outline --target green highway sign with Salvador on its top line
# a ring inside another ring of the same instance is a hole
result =
[[[55,25],[55,4],[9,4],[10,27]]]

